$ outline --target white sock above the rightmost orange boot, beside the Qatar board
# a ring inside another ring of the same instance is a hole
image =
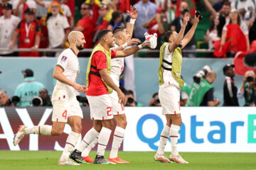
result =
[[[118,149],[124,140],[124,130],[124,128],[120,128],[118,126],[115,128],[110,158],[117,157]]]

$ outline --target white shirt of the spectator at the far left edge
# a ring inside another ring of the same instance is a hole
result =
[[[11,39],[12,39],[12,35],[14,34],[14,30],[15,28],[18,26],[18,23],[20,22],[20,18],[11,15],[11,18],[4,18],[4,16],[0,17],[0,47],[1,48],[8,48],[10,43],[11,43]],[[15,44],[14,47],[17,47],[17,43]],[[6,54],[10,54],[11,50],[8,51],[1,51],[0,54],[1,55],[6,55]]]

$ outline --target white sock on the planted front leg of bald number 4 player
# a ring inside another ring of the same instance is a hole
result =
[[[73,132],[73,131],[70,132],[70,135],[68,135],[68,139],[65,143],[65,148],[64,148],[63,154],[60,157],[60,160],[68,159],[70,155],[70,151],[73,151],[76,143],[78,142],[79,136],[80,134],[77,132]]]

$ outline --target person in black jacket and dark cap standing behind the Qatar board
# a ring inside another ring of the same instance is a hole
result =
[[[225,66],[223,67],[223,74],[225,75],[225,81],[223,86],[223,106],[239,106],[237,97],[238,88],[237,86],[235,86],[234,82],[234,67],[235,66],[233,64],[225,64]]]

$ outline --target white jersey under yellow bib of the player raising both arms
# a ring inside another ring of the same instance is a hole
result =
[[[166,47],[164,48],[164,60],[166,60],[167,62],[172,62],[173,60],[173,52],[169,51],[169,45],[166,45]],[[164,67],[171,69],[171,66],[169,64],[166,64],[165,62],[163,62],[163,65]],[[171,71],[164,69],[163,79],[164,79],[164,84],[162,84],[160,87],[165,87],[170,84],[174,84],[175,86],[180,88],[178,82],[176,81],[176,79],[174,79],[174,76],[171,74]]]

